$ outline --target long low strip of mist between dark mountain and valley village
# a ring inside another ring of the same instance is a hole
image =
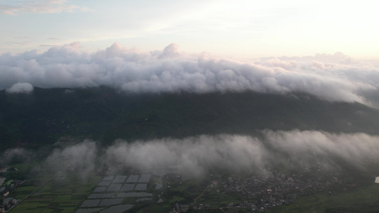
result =
[[[342,160],[365,168],[365,160],[379,160],[379,136],[365,133],[326,133],[320,131],[262,131],[262,137],[227,135],[163,138],[151,141],[115,141],[100,148],[84,141],[48,158],[54,168],[82,171],[104,167],[146,170],[179,165],[187,173],[205,173],[210,168],[233,172],[255,170],[289,162],[298,169],[310,165],[332,165]]]

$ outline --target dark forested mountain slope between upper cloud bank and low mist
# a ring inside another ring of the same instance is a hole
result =
[[[295,96],[296,95],[296,96]],[[107,87],[0,92],[0,148],[260,129],[378,133],[379,111],[304,94],[123,94]],[[65,136],[70,136],[67,138]]]

